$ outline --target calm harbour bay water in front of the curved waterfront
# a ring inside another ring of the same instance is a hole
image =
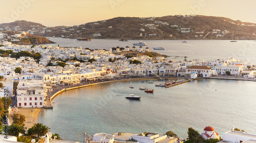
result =
[[[188,127],[200,133],[212,126],[221,137],[232,126],[256,134],[256,82],[200,79],[172,88],[155,87],[161,80],[101,83],[67,91],[42,110],[38,122],[50,126],[61,138],[82,142],[87,133],[162,133],[171,130],[185,138]],[[130,89],[133,85],[135,88]],[[139,87],[154,89],[145,93]],[[125,99],[135,94],[140,101]],[[187,135],[186,135],[187,137]]]

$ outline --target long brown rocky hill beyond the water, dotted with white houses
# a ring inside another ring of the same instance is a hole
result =
[[[30,29],[30,33],[44,37],[142,40],[231,39],[233,35],[236,40],[256,40],[256,24],[202,15],[116,17],[74,26],[38,27]]]

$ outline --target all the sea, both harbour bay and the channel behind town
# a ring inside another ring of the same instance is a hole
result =
[[[132,47],[140,40],[76,41],[74,39],[49,38],[55,45],[91,49]],[[169,60],[214,60],[236,57],[256,62],[254,41],[229,42],[229,40],[143,40],[150,51],[168,55]],[[54,44],[51,44],[54,45]],[[153,50],[153,47],[166,50]],[[146,47],[146,46],[144,46]],[[155,87],[165,80],[120,81],[100,83],[91,87],[61,93],[53,100],[53,109],[43,109],[37,122],[51,128],[65,140],[82,142],[83,130],[88,134],[117,132],[154,132],[164,134],[173,131],[180,138],[187,138],[189,127],[202,133],[211,126],[223,137],[232,127],[256,134],[256,82],[198,79],[172,88]],[[129,88],[130,85],[134,89]],[[145,93],[139,87],[154,89]],[[141,100],[125,99],[129,94]]]

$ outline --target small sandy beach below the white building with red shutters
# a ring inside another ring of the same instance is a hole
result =
[[[31,128],[36,123],[37,116],[41,110],[42,110],[42,108],[18,108],[19,113],[24,115],[26,118],[26,121],[24,123],[25,127]],[[11,115],[12,115],[12,113],[15,113],[15,112],[11,112]],[[13,121],[10,118],[10,124],[12,124],[12,122]],[[28,122],[30,122],[30,123],[28,123]]]

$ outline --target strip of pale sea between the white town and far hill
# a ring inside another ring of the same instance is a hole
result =
[[[77,41],[76,39],[63,39],[50,37],[50,40],[56,42],[61,47],[83,47],[91,49],[108,49],[111,47],[133,47],[133,43],[140,40],[129,40],[120,42],[109,39],[92,39],[92,41]],[[249,59],[253,64],[256,63],[256,42],[253,40],[188,40],[188,43],[182,43],[183,40],[143,40],[150,48],[150,51],[156,51],[161,54],[169,55],[169,60],[183,61],[184,56],[187,60],[204,59],[216,60],[224,58],[237,58],[242,61]],[[48,44],[47,44],[48,45]],[[136,46],[137,48],[139,46]],[[166,50],[154,50],[153,47],[164,47]]]

